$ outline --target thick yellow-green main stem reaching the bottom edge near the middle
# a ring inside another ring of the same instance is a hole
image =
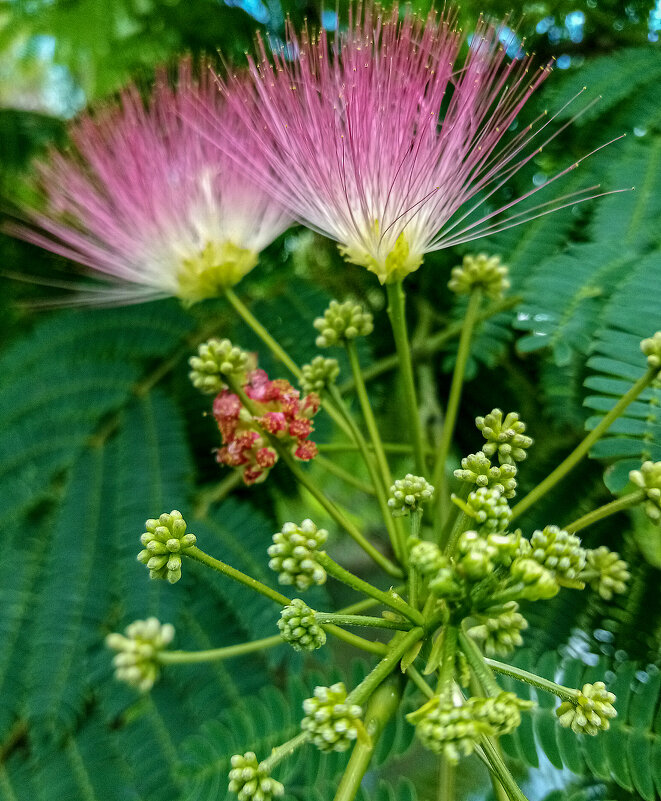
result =
[[[386,682],[371,697],[365,712],[365,728],[369,738],[358,741],[342,775],[334,801],[353,801],[374,753],[374,746],[383,729],[395,714],[401,700],[401,682],[395,678]]]

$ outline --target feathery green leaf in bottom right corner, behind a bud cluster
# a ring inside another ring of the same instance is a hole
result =
[[[510,754],[537,767],[538,749],[557,767],[569,768],[579,775],[592,775],[605,782],[616,782],[629,792],[636,792],[645,801],[661,795],[661,716],[658,713],[661,695],[661,671],[655,666],[638,669],[634,663],[621,663],[607,670],[603,660],[592,666],[575,658],[561,659],[548,652],[533,664],[530,652],[521,651],[516,664],[532,669],[541,676],[568,687],[581,687],[585,682],[605,679],[617,696],[618,717],[607,732],[596,737],[577,736],[558,725],[554,709],[557,699],[535,691],[538,706],[525,716],[523,725],[501,739]],[[508,689],[519,693],[525,685],[513,680]]]

